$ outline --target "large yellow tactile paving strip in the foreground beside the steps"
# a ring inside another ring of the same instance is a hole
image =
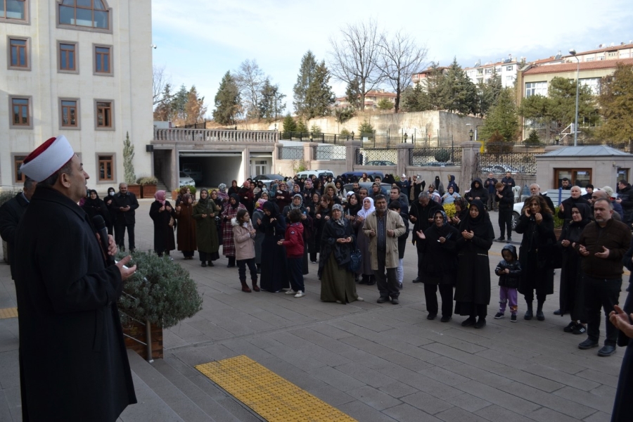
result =
[[[246,356],[196,369],[269,422],[355,421]]]

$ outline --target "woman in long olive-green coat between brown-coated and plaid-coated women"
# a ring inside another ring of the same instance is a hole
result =
[[[191,217],[196,220],[196,245],[202,267],[206,267],[207,262],[209,262],[209,267],[214,267],[213,261],[219,260],[215,216],[219,215],[220,211],[222,208],[209,198],[209,191],[200,189],[200,200],[193,205]]]

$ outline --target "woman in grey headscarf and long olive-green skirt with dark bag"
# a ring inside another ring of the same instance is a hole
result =
[[[356,293],[354,274],[350,270],[352,245],[354,245],[352,224],[343,218],[343,206],[332,207],[331,218],[326,222],[321,238],[321,300],[324,302],[347,303],[362,300]]]

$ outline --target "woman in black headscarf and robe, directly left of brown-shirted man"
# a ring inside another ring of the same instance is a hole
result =
[[[591,208],[587,204],[577,203],[571,208],[571,222],[563,228],[558,244],[563,248],[563,266],[561,267],[561,316],[570,314],[570,323],[563,328],[565,333],[587,333],[587,314],[584,310],[582,274],[580,273],[580,255],[573,244],[580,241],[584,226],[591,222]]]

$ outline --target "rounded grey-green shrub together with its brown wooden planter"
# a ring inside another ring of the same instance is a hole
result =
[[[119,252],[117,259],[126,254]],[[125,281],[118,306],[127,348],[148,359],[147,330],[151,331],[150,359],[162,358],[162,329],[169,328],[202,309],[196,282],[166,255],[134,252],[129,266],[136,272]],[[150,360],[148,359],[148,360]]]

